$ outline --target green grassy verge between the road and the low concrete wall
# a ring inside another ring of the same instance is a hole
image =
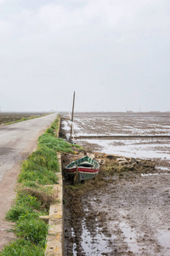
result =
[[[48,215],[54,195],[53,185],[58,182],[57,152],[74,154],[77,145],[58,138],[59,116],[42,136],[38,138],[37,151],[22,164],[18,178],[18,194],[14,205],[7,212],[7,219],[13,221],[16,241],[4,247],[1,256],[44,255],[48,224],[39,216]]]

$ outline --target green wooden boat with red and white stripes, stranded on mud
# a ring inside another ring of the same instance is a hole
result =
[[[99,172],[99,163],[86,155],[71,162],[65,169],[69,175],[75,176],[78,181],[82,181],[96,176]]]

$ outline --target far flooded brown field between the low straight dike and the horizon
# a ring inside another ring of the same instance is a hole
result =
[[[76,113],[75,135],[170,135],[170,113]],[[69,121],[64,122],[69,129]]]

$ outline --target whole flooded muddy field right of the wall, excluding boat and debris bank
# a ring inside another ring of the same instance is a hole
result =
[[[65,255],[170,255],[170,141],[153,137],[170,135],[170,113],[78,113],[74,128],[75,137],[116,136],[78,140],[88,152],[151,160],[155,167],[120,172],[73,194],[75,207],[65,204]],[[62,131],[69,136],[68,119]]]

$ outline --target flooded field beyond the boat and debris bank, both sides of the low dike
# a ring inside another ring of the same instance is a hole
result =
[[[63,120],[62,127],[70,135],[70,121]],[[94,151],[120,154],[129,157],[170,160],[170,139],[153,136],[170,136],[170,113],[98,113],[98,116],[77,114],[74,120],[75,136],[111,136],[114,139],[86,139],[77,143]],[[121,138],[119,136],[127,136]],[[152,136],[131,138],[130,136]],[[128,138],[129,136],[129,138]]]

